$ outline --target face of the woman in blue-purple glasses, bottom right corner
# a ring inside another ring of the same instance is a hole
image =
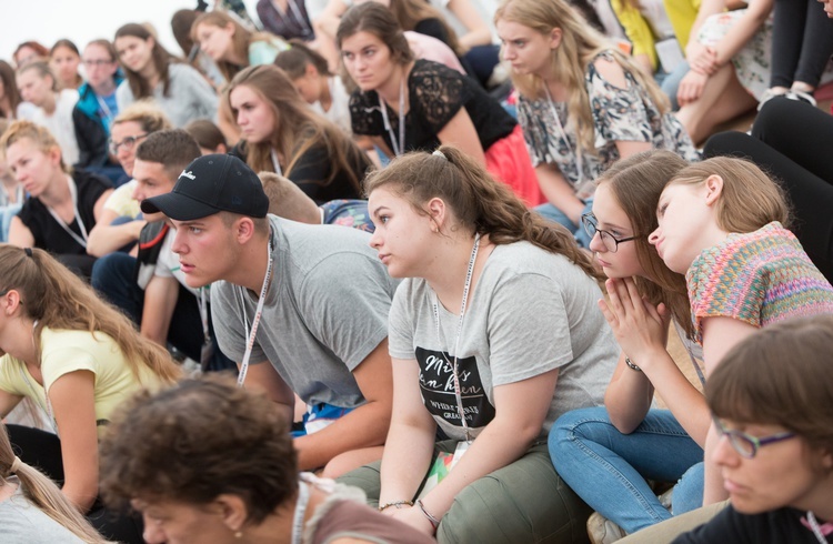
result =
[[[756,439],[784,433],[786,429],[772,424],[742,424],[721,420],[721,425]],[[721,467],[723,485],[732,505],[741,513],[757,514],[783,506],[817,510],[830,493],[833,455],[813,451],[795,436],[757,447],[753,459],[742,456],[722,435],[713,459]],[[821,500],[821,502],[820,502]]]

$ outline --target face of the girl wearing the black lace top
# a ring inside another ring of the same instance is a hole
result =
[[[375,34],[364,31],[344,38],[341,57],[348,73],[362,91],[384,85],[395,67],[391,49]]]

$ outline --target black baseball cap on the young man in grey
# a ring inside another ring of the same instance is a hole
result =
[[[265,218],[269,198],[260,178],[233,155],[210,154],[185,167],[173,191],[142,201],[142,212],[162,212],[175,221],[193,221],[218,212]]]

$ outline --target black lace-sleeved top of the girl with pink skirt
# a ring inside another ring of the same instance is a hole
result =
[[[444,64],[418,60],[408,77],[410,104],[405,115],[405,151],[433,151],[440,145],[436,134],[465,108],[483,151],[509,135],[515,120],[472,79]],[[393,133],[399,138],[399,115],[388,108]],[[384,128],[375,91],[354,91],[350,97],[350,119],[354,134],[380,135],[390,149],[391,137]]]

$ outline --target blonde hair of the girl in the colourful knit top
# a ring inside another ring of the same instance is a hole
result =
[[[784,190],[750,161],[715,157],[696,162],[681,170],[668,185],[702,185],[711,175],[723,179],[715,211],[717,226],[724,232],[754,232],[773,221],[790,226]]]

